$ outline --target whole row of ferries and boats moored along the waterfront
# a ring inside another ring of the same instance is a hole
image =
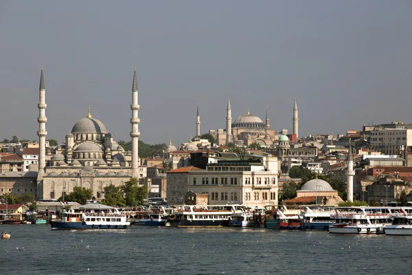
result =
[[[412,207],[241,205],[139,206],[121,210],[88,203],[62,213],[52,229],[125,229],[146,226],[232,226],[280,230],[325,230],[344,234],[412,235]]]

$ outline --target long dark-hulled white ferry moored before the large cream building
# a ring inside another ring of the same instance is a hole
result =
[[[243,212],[240,205],[174,206],[166,226],[228,226],[231,215]]]

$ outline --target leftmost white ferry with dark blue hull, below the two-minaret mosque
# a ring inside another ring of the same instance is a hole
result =
[[[62,213],[62,219],[50,222],[56,229],[126,229],[130,221],[117,208],[100,203],[87,203]]]

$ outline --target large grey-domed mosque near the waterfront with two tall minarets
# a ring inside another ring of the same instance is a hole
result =
[[[73,125],[65,137],[65,144],[56,147],[56,154],[46,154],[45,137],[45,82],[43,67],[38,103],[39,109],[39,155],[37,176],[37,199],[58,199],[73,191],[76,186],[91,189],[97,200],[104,198],[104,187],[110,184],[122,186],[130,177],[139,178],[138,138],[139,118],[137,104],[136,69],[132,88],[132,151],[124,151],[106,126],[89,113]]]

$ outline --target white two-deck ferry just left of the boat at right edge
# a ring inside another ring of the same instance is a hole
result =
[[[392,222],[392,216],[400,208],[391,207],[336,207],[331,214],[334,223],[329,226],[330,233],[342,234],[383,234],[385,225]]]

